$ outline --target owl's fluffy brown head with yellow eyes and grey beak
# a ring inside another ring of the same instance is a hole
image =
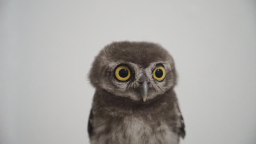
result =
[[[173,58],[150,42],[113,42],[96,56],[90,82],[115,96],[145,102],[176,84]]]

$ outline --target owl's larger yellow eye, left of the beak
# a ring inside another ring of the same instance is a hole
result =
[[[126,66],[119,66],[118,68],[116,68],[115,75],[118,80],[126,81],[130,78],[131,72],[130,69]]]

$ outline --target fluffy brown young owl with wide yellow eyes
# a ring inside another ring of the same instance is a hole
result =
[[[88,121],[91,144],[178,144],[184,138],[174,60],[159,44],[108,44],[89,79],[96,89]]]

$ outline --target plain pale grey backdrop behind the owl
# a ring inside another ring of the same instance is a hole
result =
[[[88,71],[119,40],[172,54],[181,144],[256,144],[255,0],[1,0],[0,144],[88,144]]]

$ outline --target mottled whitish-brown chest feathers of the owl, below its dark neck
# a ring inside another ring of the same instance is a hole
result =
[[[178,144],[179,137],[163,120],[126,116],[116,120],[101,119],[94,124],[92,144]]]

